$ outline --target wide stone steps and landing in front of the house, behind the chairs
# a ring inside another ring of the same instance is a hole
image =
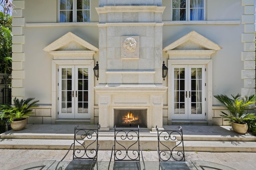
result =
[[[96,125],[79,127],[95,129]],[[177,126],[168,125],[164,129],[177,129]],[[256,152],[256,136],[234,133],[229,126],[184,125],[182,129],[185,151]],[[114,130],[100,131],[98,135],[100,150],[111,150]],[[22,131],[11,130],[0,136],[0,149],[69,149],[74,142],[74,125],[28,124]],[[141,128],[140,144],[143,150],[156,150],[157,132]]]

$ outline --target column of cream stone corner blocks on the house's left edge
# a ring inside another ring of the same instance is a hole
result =
[[[22,34],[22,27],[25,25],[24,17],[22,17],[22,10],[25,7],[24,0],[13,0],[14,10],[12,16],[12,96],[24,96],[23,80],[25,78],[25,71],[23,68],[25,55],[22,46],[24,44],[24,35]]]

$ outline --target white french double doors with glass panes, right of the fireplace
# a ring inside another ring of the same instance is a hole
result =
[[[205,119],[205,65],[174,65],[172,119]]]

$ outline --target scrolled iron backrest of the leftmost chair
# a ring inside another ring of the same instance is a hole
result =
[[[97,129],[79,129],[76,125],[74,130],[73,160],[96,160],[98,159],[98,132]]]

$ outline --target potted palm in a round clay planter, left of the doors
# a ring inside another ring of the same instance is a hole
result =
[[[32,107],[38,107],[36,104],[39,100],[33,101],[35,98],[27,98],[26,100],[19,100],[14,98],[13,105],[4,104],[0,106],[0,118],[7,118],[8,123],[14,131],[19,131],[26,127],[28,121],[27,117],[33,114]]]

